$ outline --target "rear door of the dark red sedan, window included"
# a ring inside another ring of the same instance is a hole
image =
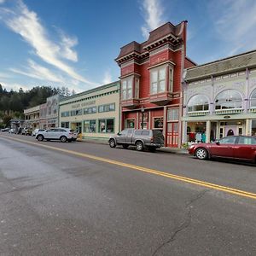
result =
[[[234,145],[234,157],[242,160],[255,160],[256,138],[241,136]]]

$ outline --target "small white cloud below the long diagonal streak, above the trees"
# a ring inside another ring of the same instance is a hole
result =
[[[9,70],[14,73],[19,73],[33,79],[51,81],[62,84],[65,83],[65,79],[55,75],[55,73],[49,71],[48,68],[38,65],[35,61],[32,60],[28,60],[28,67],[26,67],[26,70],[20,70],[17,68],[10,68]]]

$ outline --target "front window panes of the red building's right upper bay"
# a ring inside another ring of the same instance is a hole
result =
[[[166,67],[156,68],[150,73],[151,94],[166,91]]]

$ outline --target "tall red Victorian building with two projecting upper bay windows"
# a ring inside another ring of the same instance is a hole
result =
[[[186,57],[187,21],[168,22],[149,32],[143,44],[133,41],[115,59],[121,70],[121,128],[157,129],[166,147],[180,147],[182,74],[195,66]]]

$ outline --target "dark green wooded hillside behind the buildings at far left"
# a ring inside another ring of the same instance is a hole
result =
[[[0,119],[3,120],[0,126],[9,126],[9,119],[23,119],[23,111],[26,108],[32,108],[46,102],[46,98],[59,94],[61,96],[71,96],[75,94],[73,90],[67,87],[54,88],[51,86],[36,86],[31,90],[6,90],[0,84]]]

